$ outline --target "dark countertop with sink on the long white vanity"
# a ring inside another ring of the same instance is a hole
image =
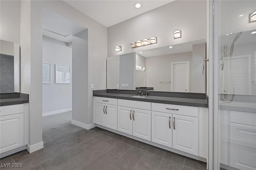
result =
[[[136,96],[134,94],[109,93],[104,91],[99,93],[94,93],[93,96],[124,99],[124,100],[135,100],[135,101],[142,101],[142,102],[162,103],[162,104],[208,107],[208,98],[198,99],[198,98],[184,98],[184,97],[179,98],[179,97],[166,97],[166,96],[146,96],[146,98],[134,98],[134,97],[130,97],[130,96]]]

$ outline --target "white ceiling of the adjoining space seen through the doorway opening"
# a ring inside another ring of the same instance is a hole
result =
[[[87,28],[44,8],[42,29],[44,36],[69,43],[72,35]]]

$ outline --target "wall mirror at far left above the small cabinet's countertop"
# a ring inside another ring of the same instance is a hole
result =
[[[0,40],[0,94],[20,92],[20,45]]]

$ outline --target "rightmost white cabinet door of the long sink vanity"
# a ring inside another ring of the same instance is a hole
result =
[[[172,115],[172,147],[198,156],[198,117]]]

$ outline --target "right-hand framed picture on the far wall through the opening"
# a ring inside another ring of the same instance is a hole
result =
[[[55,83],[70,84],[70,66],[55,64]]]

